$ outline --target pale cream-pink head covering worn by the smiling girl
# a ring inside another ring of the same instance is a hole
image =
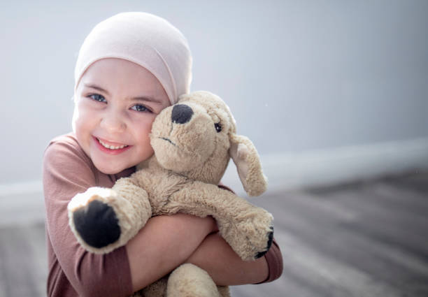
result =
[[[86,69],[104,58],[120,58],[150,71],[171,104],[189,93],[192,55],[183,34],[150,13],[119,13],[100,22],[85,38],[74,71],[74,90]]]

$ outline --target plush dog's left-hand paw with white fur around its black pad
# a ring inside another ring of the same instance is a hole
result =
[[[121,235],[113,205],[118,197],[112,189],[92,187],[71,199],[69,224],[78,242],[90,252],[110,252]],[[106,249],[108,247],[108,249]]]

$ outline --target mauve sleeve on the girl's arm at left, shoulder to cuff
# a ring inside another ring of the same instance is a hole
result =
[[[69,228],[70,199],[98,185],[92,166],[73,143],[51,143],[45,150],[43,191],[48,244],[78,296],[131,295],[131,272],[125,247],[109,254],[92,254],[80,246]],[[52,265],[55,263],[50,263]],[[48,288],[55,287],[55,279],[55,276],[48,277]]]

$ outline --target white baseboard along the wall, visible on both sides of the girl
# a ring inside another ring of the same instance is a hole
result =
[[[427,170],[428,138],[267,154],[261,159],[269,179],[269,193]],[[245,196],[233,162],[230,162],[222,182],[236,194]],[[0,184],[0,225],[21,218],[41,219],[43,215],[41,181]]]

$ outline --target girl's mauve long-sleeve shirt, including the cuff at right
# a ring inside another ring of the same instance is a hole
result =
[[[49,297],[132,294],[126,247],[109,254],[87,252],[69,228],[67,205],[73,196],[89,187],[113,187],[116,180],[134,171],[135,168],[129,168],[116,175],[101,173],[78,145],[73,133],[50,142],[43,158]],[[283,271],[283,259],[275,240],[265,259],[269,277],[264,282],[271,282]]]

